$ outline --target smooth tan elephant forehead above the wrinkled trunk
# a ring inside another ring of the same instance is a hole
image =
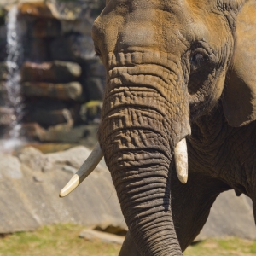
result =
[[[210,11],[214,1],[209,6],[206,2],[112,0],[96,20],[92,35],[105,57],[134,47],[182,55],[195,41],[221,47],[222,35],[227,34],[224,16]]]

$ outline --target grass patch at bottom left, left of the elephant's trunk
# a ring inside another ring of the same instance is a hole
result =
[[[83,226],[56,224],[0,239],[0,256],[115,256],[120,246],[79,238]]]

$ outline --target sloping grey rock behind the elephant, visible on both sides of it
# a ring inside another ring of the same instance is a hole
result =
[[[0,154],[0,234],[35,230],[38,226],[55,223],[97,226],[100,227],[97,230],[105,231],[109,227],[110,230],[116,230],[112,227],[127,230],[112,179],[102,164],[70,195],[58,198],[60,190],[90,150],[79,146],[53,154],[40,154],[32,148],[21,152],[26,153],[25,158],[19,156],[21,162],[15,156]],[[39,166],[43,166],[44,160],[50,163],[52,167],[48,172],[31,169],[38,159]],[[197,240],[223,236],[256,239],[252,203],[244,195],[236,197],[234,191],[218,196]]]

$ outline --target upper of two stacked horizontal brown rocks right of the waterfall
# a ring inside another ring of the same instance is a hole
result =
[[[25,62],[21,67],[21,79],[26,82],[67,83],[79,79],[79,64],[67,61],[44,63]]]

